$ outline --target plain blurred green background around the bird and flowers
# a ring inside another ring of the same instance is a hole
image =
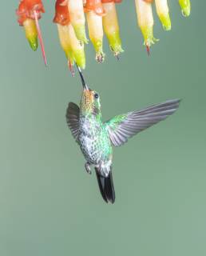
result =
[[[189,18],[170,2],[172,31],[161,29],[148,58],[133,1],[118,6],[125,53],[117,62],[105,40],[105,63],[86,46],[85,78],[101,94],[103,117],[182,98],[165,122],[116,148],[114,205],[101,199],[95,175],[65,122],[79,102],[51,22],[41,20],[49,67],[30,50],[18,27],[18,1],[1,3],[0,255],[205,255],[206,102],[205,9],[192,2]]]

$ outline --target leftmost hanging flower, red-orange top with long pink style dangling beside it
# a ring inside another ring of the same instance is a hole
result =
[[[38,49],[39,38],[42,47],[42,55],[45,64],[47,64],[42,34],[38,24],[38,19],[42,17],[42,13],[44,12],[45,10],[42,0],[22,0],[19,3],[18,10],[16,10],[16,14],[18,15],[18,23],[20,26],[24,26],[26,38],[33,50]]]

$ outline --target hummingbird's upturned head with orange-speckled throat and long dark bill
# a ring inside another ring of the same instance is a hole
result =
[[[81,95],[81,103],[80,103],[81,114],[82,115],[93,114],[95,116],[101,117],[101,104],[100,104],[99,94],[96,91],[89,89],[89,87],[85,83],[85,79],[79,68],[78,68],[78,71],[79,71],[79,74],[81,77],[81,83],[83,86],[83,92]]]

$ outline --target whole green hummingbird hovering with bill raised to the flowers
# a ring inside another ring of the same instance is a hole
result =
[[[123,145],[128,138],[173,114],[179,107],[180,99],[120,114],[103,122],[99,94],[89,89],[80,68],[78,71],[83,86],[80,107],[69,102],[66,121],[85,156],[85,170],[91,174],[91,166],[94,166],[102,198],[113,203],[113,146]]]

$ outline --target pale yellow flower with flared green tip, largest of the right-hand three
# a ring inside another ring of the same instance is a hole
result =
[[[141,33],[145,39],[145,46],[149,54],[149,48],[156,41],[156,38],[153,37],[153,11],[152,4],[150,2],[145,2],[143,0],[135,0],[136,10],[137,10],[137,22],[138,26],[141,28]]]

